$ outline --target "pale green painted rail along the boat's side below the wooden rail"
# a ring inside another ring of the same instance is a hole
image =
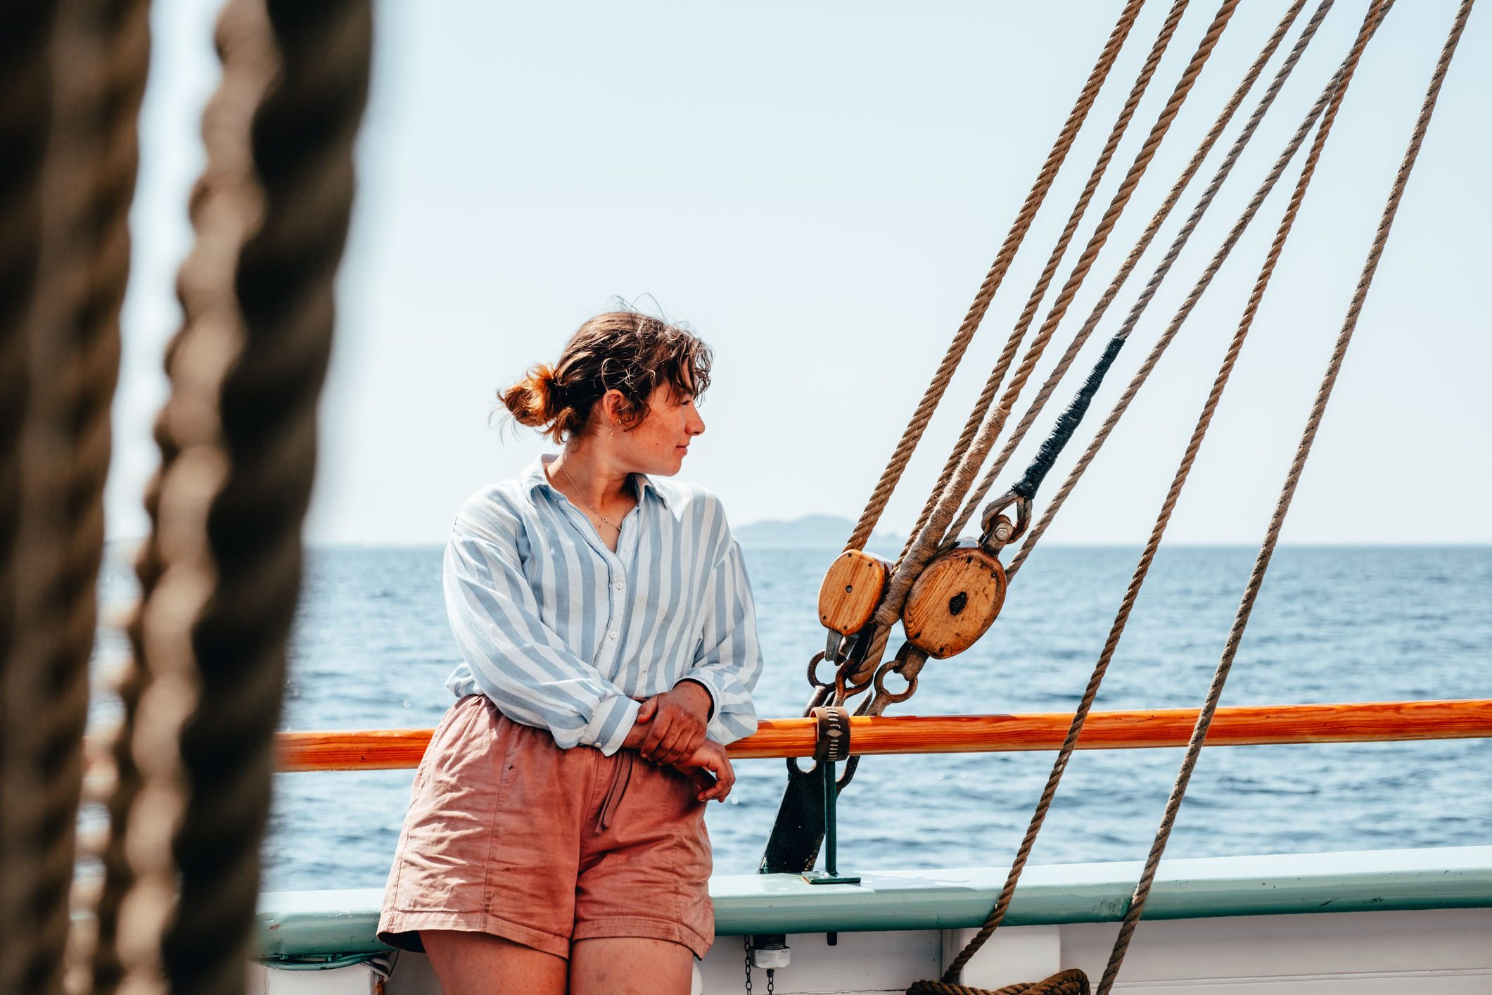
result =
[[[841,868],[843,870],[843,868]],[[953,929],[983,923],[1004,868],[864,871],[864,885],[812,886],[792,874],[710,880],[718,935]],[[1006,923],[1115,922],[1140,862],[1026,868]],[[364,953],[383,947],[380,888],[261,895],[263,955]],[[1146,919],[1492,907],[1492,846],[1286,853],[1165,861]]]

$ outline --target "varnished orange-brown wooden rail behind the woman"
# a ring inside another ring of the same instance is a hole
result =
[[[855,753],[992,753],[1055,750],[1073,716],[1026,715],[864,716],[850,719]],[[1197,709],[1094,712],[1077,749],[1185,746]],[[416,767],[433,729],[280,732],[279,767],[397,770]],[[755,735],[731,743],[745,758],[813,756],[813,719],[762,719]],[[1365,701],[1217,709],[1209,746],[1267,743],[1380,743],[1492,737],[1492,698]]]

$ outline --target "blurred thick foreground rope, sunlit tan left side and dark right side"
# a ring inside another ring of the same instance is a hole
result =
[[[231,0],[216,40],[137,564],[116,749],[137,777],[112,804],[97,992],[243,991],[372,12]]]

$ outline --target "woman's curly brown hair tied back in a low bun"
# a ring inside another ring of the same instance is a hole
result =
[[[712,360],[710,348],[679,325],[612,310],[580,325],[557,364],[530,367],[498,400],[519,425],[562,443],[595,430],[592,412],[607,391],[622,395],[624,430],[648,418],[648,397],[661,383],[679,397],[700,397],[710,386]]]

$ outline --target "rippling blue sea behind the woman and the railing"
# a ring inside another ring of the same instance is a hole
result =
[[[833,547],[747,546],[765,671],[758,715],[797,716],[824,646],[816,598]],[[1071,710],[1138,549],[1037,550],[1000,619],[968,652],[930,661],[894,715]],[[1097,709],[1197,707],[1255,550],[1162,549]],[[439,547],[307,553],[283,729],[433,726],[458,656]],[[106,601],[127,594],[110,558]],[[115,637],[118,638],[118,637]],[[895,643],[892,643],[895,649]],[[1223,706],[1492,697],[1492,547],[1277,550]],[[1080,750],[1035,844],[1035,864],[1143,859],[1180,749]],[[840,798],[841,873],[1004,867],[1053,753],[868,756]],[[785,761],[737,761],[710,804],[716,874],[756,870]],[[413,771],[276,774],[264,889],[380,886]],[[1219,746],[1204,750],[1168,856],[1486,844],[1492,740]]]

